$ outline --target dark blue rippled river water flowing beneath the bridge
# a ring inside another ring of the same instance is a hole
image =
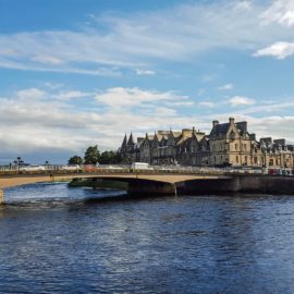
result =
[[[291,196],[130,199],[58,183],[5,199],[0,293],[294,293]]]

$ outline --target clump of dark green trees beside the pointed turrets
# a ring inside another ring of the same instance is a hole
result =
[[[106,150],[100,152],[98,146],[89,146],[86,151],[84,158],[81,156],[73,156],[69,159],[69,164],[117,164],[121,163],[122,158],[120,154],[113,150]]]

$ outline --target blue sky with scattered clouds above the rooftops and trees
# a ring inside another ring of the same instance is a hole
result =
[[[294,143],[294,0],[0,0],[0,164],[248,122]]]

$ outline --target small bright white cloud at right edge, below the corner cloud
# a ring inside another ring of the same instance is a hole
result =
[[[285,59],[294,53],[294,42],[279,41],[264,49],[259,49],[254,57],[274,57]]]

